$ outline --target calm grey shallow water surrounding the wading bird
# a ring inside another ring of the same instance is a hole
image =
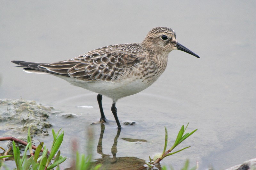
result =
[[[224,169],[242,163],[256,156],[255,7],[255,1],[1,1],[0,99],[35,100],[76,114],[72,119],[50,117],[54,129],[65,131],[61,151],[70,158],[71,138],[81,141],[84,151],[87,128],[100,118],[97,94],[55,76],[11,68],[15,65],[10,60],[61,61],[106,45],[141,42],[155,26],[171,27],[178,41],[201,58],[172,51],[156,83],[117,102],[119,120],[136,124],[123,125],[116,157],[148,159],[162,152],[164,126],[173,142],[180,126],[190,122],[188,130],[198,130],[182,146],[191,147],[165,158],[162,165],[179,169],[189,159],[191,166],[198,161],[199,169]],[[109,155],[117,133],[111,104],[103,96],[110,122],[102,148]],[[98,159],[100,124],[92,127]],[[51,137],[44,140],[50,146]]]

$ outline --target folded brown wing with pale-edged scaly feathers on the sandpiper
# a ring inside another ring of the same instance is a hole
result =
[[[122,51],[94,50],[71,60],[39,67],[84,81],[115,81],[138,64],[139,57]]]

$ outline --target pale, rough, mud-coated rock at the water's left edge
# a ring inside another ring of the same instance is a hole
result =
[[[14,129],[16,132],[31,134],[44,133],[44,128],[52,124],[47,122],[52,107],[44,107],[35,101],[4,99],[0,100],[0,126],[2,130]]]

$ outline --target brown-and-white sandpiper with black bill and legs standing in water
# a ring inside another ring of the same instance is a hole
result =
[[[166,69],[168,54],[175,49],[199,58],[177,41],[176,33],[171,28],[155,27],[141,43],[109,45],[55,63],[11,62],[20,65],[18,67],[23,67],[26,72],[53,74],[71,85],[98,93],[100,122],[107,122],[102,95],[111,98],[111,111],[117,128],[121,129],[117,100],[152,85]]]

